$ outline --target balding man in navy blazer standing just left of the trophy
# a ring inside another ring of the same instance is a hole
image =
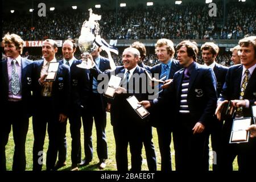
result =
[[[68,107],[68,119],[70,123],[70,132],[72,138],[71,144],[71,171],[78,171],[77,164],[81,162],[81,105],[86,102],[86,93],[89,92],[89,72],[88,69],[81,69],[77,65],[82,61],[77,60],[74,56],[76,52],[76,43],[72,39],[65,40],[62,46],[63,60],[61,64],[68,65],[71,72],[71,102]],[[84,97],[85,96],[85,97]],[[83,101],[84,100],[84,101]],[[55,169],[66,166],[67,158],[67,139],[66,133],[67,121],[60,124],[60,131],[63,140],[59,143],[59,160]]]

